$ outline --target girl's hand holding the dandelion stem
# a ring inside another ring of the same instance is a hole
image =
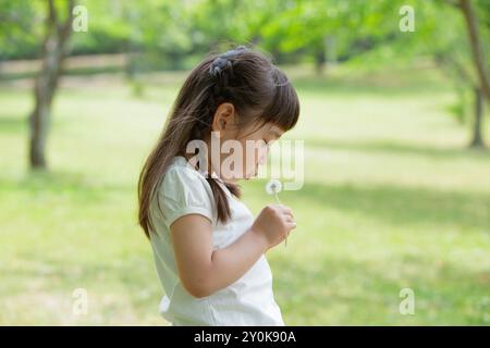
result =
[[[262,209],[252,231],[265,240],[266,251],[284,240],[296,228],[293,211],[282,204],[269,204]]]

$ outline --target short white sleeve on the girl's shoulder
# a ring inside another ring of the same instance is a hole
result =
[[[185,166],[170,167],[163,177],[158,199],[166,225],[181,216],[200,214],[213,221],[213,199],[209,184],[196,171]]]

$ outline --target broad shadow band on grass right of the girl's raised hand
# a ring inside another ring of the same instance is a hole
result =
[[[249,186],[255,195],[265,195],[259,182]],[[437,225],[446,228],[478,228],[490,233],[490,195],[442,191],[427,187],[392,185],[324,185],[305,183],[298,191],[281,194],[284,202],[321,214],[322,207],[394,225]]]

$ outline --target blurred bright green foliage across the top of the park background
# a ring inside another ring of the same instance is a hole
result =
[[[0,58],[33,58],[42,35],[41,2],[2,1]],[[230,42],[259,45],[278,62],[345,61],[383,64],[420,55],[450,58],[470,76],[462,14],[442,0],[79,0],[87,33],[73,33],[72,54],[136,52],[135,70],[187,67],[184,60]],[[415,10],[416,32],[399,29],[402,5]],[[475,1],[482,41],[490,41],[489,2]],[[136,65],[137,66],[136,66]],[[473,77],[471,77],[473,78]]]

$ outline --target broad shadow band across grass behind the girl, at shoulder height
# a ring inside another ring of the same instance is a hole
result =
[[[264,183],[247,183],[246,195],[265,196]],[[34,172],[22,178],[2,179],[5,192],[27,195],[70,195],[73,198],[103,199],[107,195],[136,195],[136,183],[100,183],[97,178],[75,173]],[[490,233],[490,194],[438,190],[429,187],[396,185],[353,185],[305,183],[298,191],[281,194],[284,202],[313,211],[338,210],[364,214],[383,224],[415,226],[437,225],[448,228],[478,228]]]

